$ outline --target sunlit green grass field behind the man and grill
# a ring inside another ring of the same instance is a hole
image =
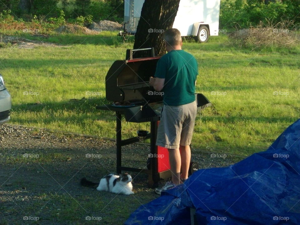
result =
[[[95,106],[108,103],[106,73],[133,42],[122,43],[109,32],[42,40],[64,47],[0,50],[0,71],[12,95],[11,123],[115,138],[114,113]],[[263,151],[299,118],[300,47],[237,49],[222,35],[206,44],[184,42],[183,49],[199,64],[197,93],[213,104],[198,113],[194,151]],[[149,124],[124,121],[124,136],[139,127]]]

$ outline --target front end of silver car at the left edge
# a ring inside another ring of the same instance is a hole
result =
[[[12,109],[12,99],[8,90],[5,88],[2,75],[0,73],[0,127],[10,119],[10,110]]]

